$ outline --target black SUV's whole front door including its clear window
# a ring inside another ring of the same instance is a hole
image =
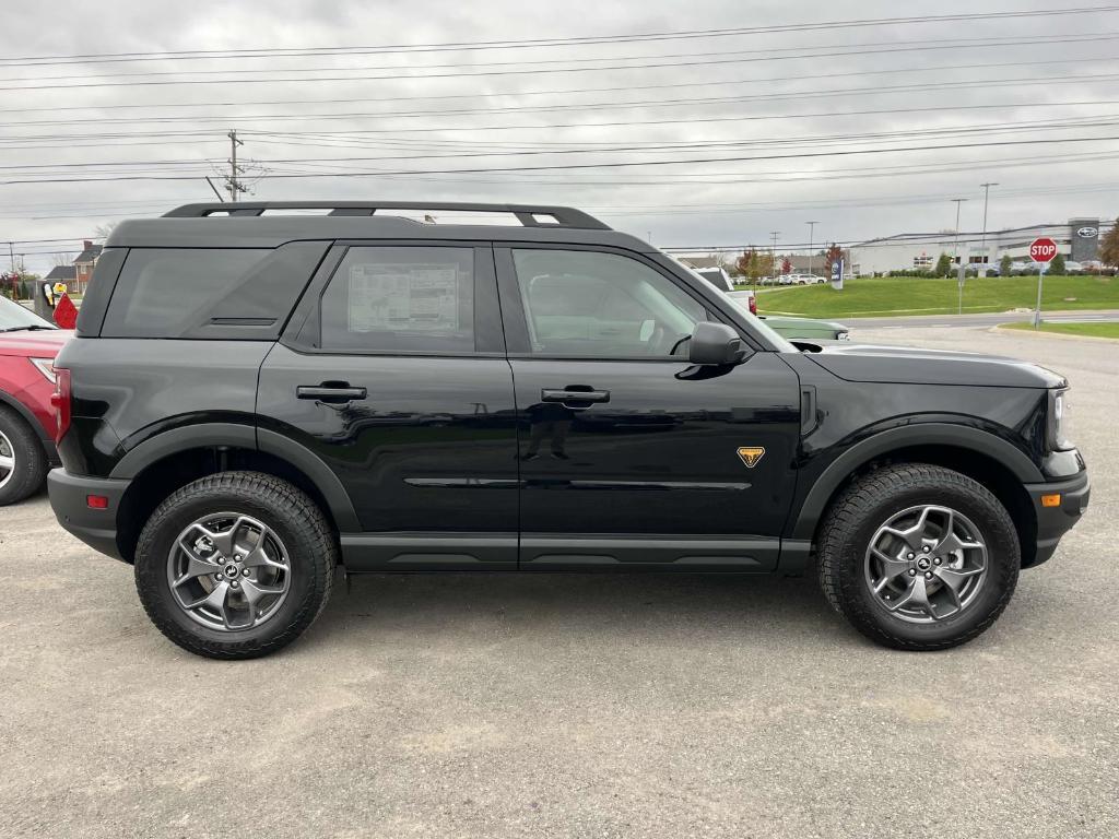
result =
[[[636,255],[496,255],[521,567],[775,567],[800,434],[793,370],[773,352],[688,364],[687,336],[711,315],[687,283]]]

